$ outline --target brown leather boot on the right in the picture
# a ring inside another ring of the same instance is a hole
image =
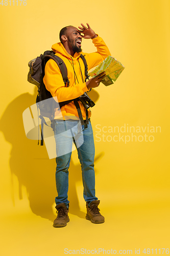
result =
[[[100,200],[94,200],[90,203],[90,206],[88,206],[88,202],[86,202],[86,207],[87,207],[86,220],[89,220],[92,223],[105,222],[105,218],[99,212],[100,211],[100,209],[98,208],[99,203],[100,203]]]

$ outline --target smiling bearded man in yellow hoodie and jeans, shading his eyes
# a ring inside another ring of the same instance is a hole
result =
[[[82,58],[80,58],[82,38],[92,39],[94,46],[97,48],[97,52],[90,54],[82,53],[87,61],[88,70],[99,65],[111,54],[103,39],[95,34],[89,24],[87,24],[87,27],[83,24],[81,25],[82,27],[79,27],[79,30],[73,26],[63,28],[60,31],[60,42],[52,46],[55,54],[64,61],[67,67],[69,87],[65,87],[59,67],[53,59],[48,60],[45,66],[45,76],[43,78],[45,87],[51,92],[53,97],[57,97],[58,102],[80,97],[85,92],[88,92],[90,88],[98,87],[105,76],[103,72],[85,82],[85,66]],[[82,33],[83,35],[81,35]],[[78,103],[85,125],[81,125],[78,122],[79,115],[74,101],[62,106],[62,118],[58,116],[57,111],[55,113],[56,187],[58,193],[55,201],[58,215],[54,221],[54,227],[66,226],[67,222],[69,222],[67,191],[72,141],[74,141],[77,147],[82,167],[83,196],[87,207],[86,219],[92,223],[103,223],[105,221],[99,212],[98,205],[100,201],[95,197],[94,140],[90,123],[91,111],[88,110],[87,112],[83,104],[80,101]],[[86,115],[88,115],[87,118]],[[70,130],[71,136],[68,132]],[[83,143],[80,142],[80,134],[82,133]],[[65,151],[64,154],[61,153],[63,149]]]

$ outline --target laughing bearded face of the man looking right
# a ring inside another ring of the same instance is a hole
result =
[[[69,49],[72,49],[74,52],[82,52],[82,36],[77,30],[78,29],[75,27],[67,28],[66,36],[68,38],[68,47]]]

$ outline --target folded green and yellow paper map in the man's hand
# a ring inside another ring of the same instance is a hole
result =
[[[98,66],[93,68],[88,75],[95,77],[105,71],[106,76],[103,78],[102,83],[105,84],[105,86],[109,86],[113,83],[113,81],[116,81],[124,69],[125,67],[122,65],[122,63],[120,63],[117,59],[108,56]]]

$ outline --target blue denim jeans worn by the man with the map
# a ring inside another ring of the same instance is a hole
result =
[[[80,121],[54,120],[54,134],[56,140],[56,187],[58,196],[56,205],[65,203],[68,207],[68,168],[71,159],[72,142],[75,143],[82,168],[83,197],[90,204],[95,197],[94,175],[94,139],[91,122],[87,128]]]

